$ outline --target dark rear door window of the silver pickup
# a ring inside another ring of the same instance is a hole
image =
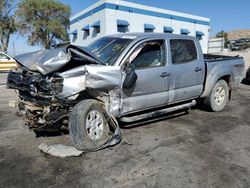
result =
[[[188,63],[197,59],[197,50],[192,40],[170,40],[173,64]]]

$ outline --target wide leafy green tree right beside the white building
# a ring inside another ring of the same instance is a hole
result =
[[[67,41],[70,8],[56,0],[22,0],[17,17],[22,35],[30,45],[49,49],[58,42]]]

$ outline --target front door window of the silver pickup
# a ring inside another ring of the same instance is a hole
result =
[[[129,62],[130,67],[135,69],[165,65],[165,42],[157,40],[141,44],[131,55]]]

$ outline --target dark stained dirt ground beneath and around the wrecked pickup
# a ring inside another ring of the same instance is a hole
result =
[[[36,138],[8,107],[15,92],[0,91],[0,187],[250,187],[249,85],[223,112],[126,125],[119,145],[72,158],[40,153],[40,143],[70,144],[69,136]]]

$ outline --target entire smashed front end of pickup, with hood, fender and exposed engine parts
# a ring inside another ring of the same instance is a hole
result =
[[[112,115],[118,115],[119,98],[114,100],[114,93],[121,84],[120,70],[103,65],[86,49],[70,45],[16,60],[20,66],[9,73],[7,87],[19,91],[19,113],[31,129],[67,129],[71,109],[88,98],[101,101]]]

